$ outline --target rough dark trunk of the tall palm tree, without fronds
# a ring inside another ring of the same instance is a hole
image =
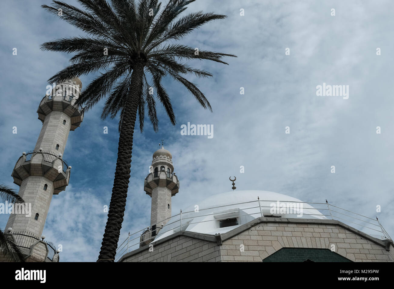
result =
[[[98,262],[113,262],[115,259],[123,216],[125,215],[127,189],[130,179],[133,133],[137,118],[138,98],[141,96],[143,69],[144,63],[142,59],[137,59],[131,75],[129,101],[127,101],[125,107],[119,134],[115,179],[113,181],[108,220],[105,226]]]

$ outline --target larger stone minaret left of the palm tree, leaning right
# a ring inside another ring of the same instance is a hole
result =
[[[33,151],[22,154],[11,174],[20,186],[19,195],[27,207],[31,206],[31,215],[11,214],[6,229],[41,237],[52,195],[58,195],[69,184],[71,166],[63,153],[69,132],[80,126],[84,116],[74,105],[81,88],[80,79],[74,78],[57,85],[41,100],[37,113],[43,127],[37,143]],[[18,243],[24,242],[25,247],[31,243],[32,238],[20,237]]]

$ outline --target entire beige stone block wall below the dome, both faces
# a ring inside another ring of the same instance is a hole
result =
[[[220,237],[178,232],[172,239],[169,236],[161,240],[152,252],[149,246],[142,247],[126,254],[121,261],[261,262],[282,248],[333,249],[356,262],[394,260],[392,245],[387,251],[382,245],[336,224],[261,222],[228,239],[227,234],[232,233],[223,234],[225,241],[218,245]]]

